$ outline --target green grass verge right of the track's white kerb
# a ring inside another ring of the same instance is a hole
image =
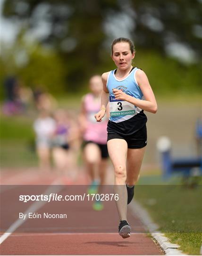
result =
[[[171,243],[190,255],[202,245],[202,186],[138,185],[135,198],[150,213]]]

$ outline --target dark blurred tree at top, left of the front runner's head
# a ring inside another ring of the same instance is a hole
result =
[[[3,13],[26,20],[28,30],[40,21],[49,24],[49,33],[39,41],[57,49],[66,65],[68,89],[75,91],[100,64],[106,38],[103,19],[110,9],[120,9],[116,0],[11,0],[5,1]]]

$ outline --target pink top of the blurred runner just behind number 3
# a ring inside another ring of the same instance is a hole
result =
[[[84,109],[87,120],[84,140],[90,140],[99,144],[107,144],[108,119],[104,117],[101,122],[96,122],[96,119],[94,118],[94,115],[99,112],[100,106],[100,99],[96,101],[92,93],[88,93],[84,96]]]

